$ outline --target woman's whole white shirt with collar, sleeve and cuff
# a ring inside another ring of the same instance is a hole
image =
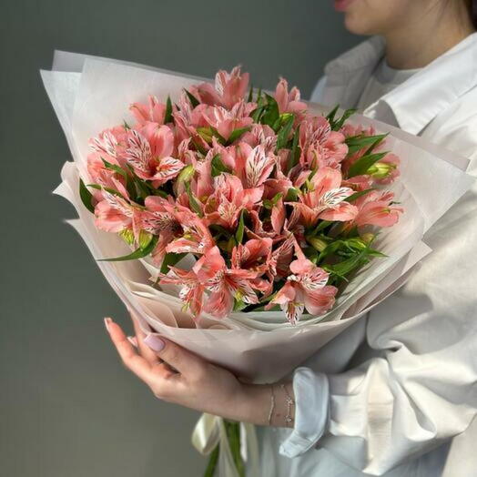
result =
[[[332,61],[311,100],[356,107],[383,46]],[[477,177],[477,34],[364,114],[471,158]],[[295,429],[259,429],[263,477],[477,475],[477,183],[424,241],[406,285],[295,371]]]

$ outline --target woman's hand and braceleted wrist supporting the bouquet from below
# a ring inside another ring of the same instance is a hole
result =
[[[127,369],[144,381],[157,398],[234,421],[269,424],[270,387],[240,382],[231,372],[210,364],[176,343],[147,336],[132,317],[136,339],[131,340],[110,318],[109,336]],[[272,423],[280,423],[279,387]]]

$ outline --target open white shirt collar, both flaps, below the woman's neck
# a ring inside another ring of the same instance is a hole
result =
[[[341,86],[341,97],[347,107],[358,102],[367,79],[384,55],[384,46],[381,37],[373,36],[325,67],[330,85],[335,86],[335,93],[336,86]],[[467,36],[382,96],[364,113],[368,115],[384,102],[391,107],[401,129],[418,134],[442,110],[474,86],[477,86],[477,33]]]

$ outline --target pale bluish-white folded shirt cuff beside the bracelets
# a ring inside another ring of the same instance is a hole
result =
[[[314,447],[329,423],[330,386],[326,374],[310,368],[293,373],[295,427],[279,447],[285,457],[297,457]]]

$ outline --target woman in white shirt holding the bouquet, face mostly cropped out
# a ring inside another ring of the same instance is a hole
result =
[[[311,99],[359,107],[426,137],[473,159],[476,175],[472,5],[335,0],[335,7],[352,33],[379,36],[331,62]],[[477,186],[425,241],[433,253],[406,285],[274,386],[274,406],[269,386],[244,384],[170,341],[145,337],[136,323],[129,340],[110,319],[107,329],[158,398],[263,425],[263,476],[476,475]]]

